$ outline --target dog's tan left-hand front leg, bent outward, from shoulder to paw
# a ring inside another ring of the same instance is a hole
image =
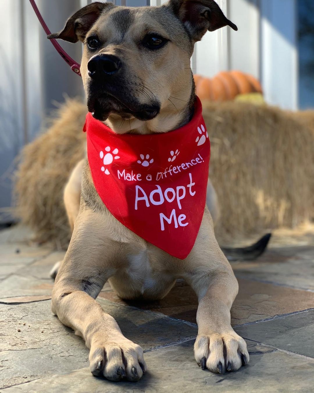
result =
[[[115,273],[118,247],[104,239],[99,214],[82,209],[53,287],[52,311],[86,341],[93,375],[136,381],[146,368],[142,348],[123,336],[114,318],[95,300]]]

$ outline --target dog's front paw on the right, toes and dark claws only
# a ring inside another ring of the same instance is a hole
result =
[[[197,364],[204,370],[224,374],[248,364],[246,342],[234,331],[225,334],[198,335],[194,344]]]

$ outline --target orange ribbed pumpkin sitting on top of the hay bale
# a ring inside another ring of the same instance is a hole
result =
[[[213,78],[194,75],[194,81],[199,98],[211,101],[234,99],[238,94],[262,93],[259,81],[241,71],[223,71]]]

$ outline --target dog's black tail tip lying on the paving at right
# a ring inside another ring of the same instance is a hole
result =
[[[261,237],[259,241],[252,244],[252,246],[242,248],[222,247],[221,250],[223,250],[223,253],[226,255],[228,261],[248,261],[256,259],[266,250],[271,235],[271,233],[267,233]]]

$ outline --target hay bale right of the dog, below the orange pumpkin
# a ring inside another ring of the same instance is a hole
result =
[[[206,102],[203,108],[212,144],[210,178],[221,204],[219,240],[311,220],[314,128],[309,120],[240,102]]]

